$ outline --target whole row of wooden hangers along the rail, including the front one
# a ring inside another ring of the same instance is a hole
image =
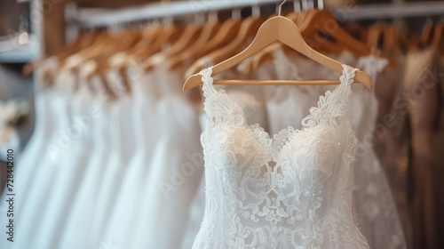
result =
[[[223,61],[213,67],[215,76],[257,54],[247,64],[246,68],[251,71],[272,60],[272,51],[278,46],[285,52],[304,54],[341,72],[339,62],[320,52],[338,54],[346,49],[357,57],[376,53],[393,64],[392,58],[379,51],[377,45],[370,41],[377,43],[380,36],[385,37],[386,44],[400,40],[396,29],[377,25],[367,33],[368,42],[362,42],[341,28],[331,13],[319,9],[289,12],[285,16],[279,14],[265,22],[260,15],[245,20],[232,17],[223,23],[214,18],[214,14],[210,14],[210,17],[202,25],[191,23],[186,28],[172,22],[155,21],[142,30],[127,28],[118,32],[85,32],[54,57],[59,61],[59,68],[72,70],[79,68],[85,61],[94,61],[95,67],[87,74],[90,77],[103,76],[109,68],[115,68],[125,79],[126,68],[134,61],[145,71],[161,63],[166,63],[168,70],[187,67],[186,77],[189,78],[184,85],[186,90],[202,83],[200,77],[195,75],[202,68]],[[252,44],[243,50],[252,38]],[[39,63],[37,61],[27,69]],[[49,71],[44,76],[51,82],[55,73]],[[102,79],[106,82],[105,77]],[[361,71],[357,72],[356,81],[371,87],[369,76]],[[215,81],[215,84],[338,84],[338,81]]]

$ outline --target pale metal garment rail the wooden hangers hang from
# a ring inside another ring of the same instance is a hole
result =
[[[280,4],[281,0],[187,0],[146,4],[117,11],[81,14],[77,18],[80,28],[113,27],[117,24],[140,20],[163,19],[185,16],[199,12],[242,8],[251,5]],[[413,16],[444,15],[444,1],[405,4],[363,4],[352,8],[328,8],[347,20],[369,20]]]

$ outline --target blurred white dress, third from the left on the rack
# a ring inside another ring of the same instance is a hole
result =
[[[91,79],[94,92],[102,92],[101,79],[94,76]],[[65,226],[59,238],[56,248],[78,249],[88,248],[87,241],[90,238],[90,227],[99,198],[99,185],[103,174],[107,170],[107,158],[110,149],[110,123],[107,100],[99,99],[99,94],[94,96],[91,104],[91,116],[95,116],[92,122],[92,135],[94,148],[86,165],[85,173],[79,185],[79,189],[73,197],[72,207],[67,213]]]

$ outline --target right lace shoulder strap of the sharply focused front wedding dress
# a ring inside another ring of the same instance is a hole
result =
[[[321,121],[329,121],[334,117],[345,116],[348,108],[348,100],[352,93],[351,84],[358,68],[352,68],[345,64],[343,66],[343,74],[339,78],[340,84],[335,90],[327,91],[321,95],[318,100],[317,107],[310,108],[310,114],[302,120],[302,125],[311,127],[319,124]]]

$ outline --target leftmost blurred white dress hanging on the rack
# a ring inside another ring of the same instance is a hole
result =
[[[46,198],[52,192],[53,181],[64,165],[63,158],[69,155],[73,140],[70,129],[71,101],[68,95],[74,92],[75,78],[70,72],[60,71],[52,89],[52,116],[54,132],[44,148],[42,160],[36,162],[37,170],[24,190],[23,202],[17,211],[16,232],[20,235],[14,248],[31,248],[36,239],[38,219],[44,213]]]

